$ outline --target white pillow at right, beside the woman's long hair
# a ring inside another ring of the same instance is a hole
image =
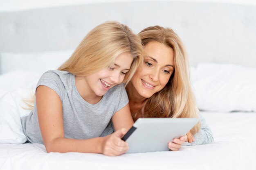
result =
[[[192,74],[199,109],[256,111],[256,68],[200,63]]]

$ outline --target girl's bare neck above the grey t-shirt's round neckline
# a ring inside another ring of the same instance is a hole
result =
[[[94,105],[101,100],[102,96],[97,96],[94,92],[90,90],[90,88],[88,87],[88,83],[85,81],[85,78],[83,76],[75,76],[75,85],[80,96],[86,102]]]

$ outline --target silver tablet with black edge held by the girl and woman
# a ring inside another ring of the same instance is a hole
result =
[[[168,143],[186,135],[199,118],[139,118],[122,138],[126,153],[168,151]]]

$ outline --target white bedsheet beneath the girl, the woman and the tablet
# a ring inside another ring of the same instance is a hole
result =
[[[179,151],[108,157],[88,153],[46,153],[42,144],[0,144],[1,170],[256,170],[256,113],[202,112],[215,142]]]

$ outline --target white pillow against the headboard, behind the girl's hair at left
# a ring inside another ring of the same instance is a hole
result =
[[[73,51],[62,50],[38,53],[1,52],[0,73],[27,70],[42,74],[47,70],[57,70],[72,55]]]

